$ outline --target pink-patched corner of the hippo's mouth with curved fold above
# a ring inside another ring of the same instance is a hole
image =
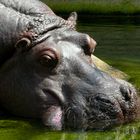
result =
[[[43,112],[43,124],[51,130],[62,130],[63,111],[62,104],[64,97],[61,92],[55,89],[43,89],[43,93],[48,96],[49,103]]]

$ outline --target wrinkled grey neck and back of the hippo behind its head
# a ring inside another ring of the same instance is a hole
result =
[[[51,30],[75,29],[75,24],[56,16],[38,0],[1,0],[0,18],[0,63],[13,55],[14,45],[23,37],[36,44]]]

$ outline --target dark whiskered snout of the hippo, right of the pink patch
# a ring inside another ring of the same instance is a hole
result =
[[[115,90],[117,88],[114,88]],[[137,96],[130,90],[133,89],[119,91],[118,87],[117,92],[113,92],[112,89],[112,92],[92,92],[83,95],[81,103],[70,103],[66,108],[65,127],[72,130],[104,130],[134,120],[137,113]]]

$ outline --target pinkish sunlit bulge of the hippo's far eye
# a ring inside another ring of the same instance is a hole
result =
[[[96,41],[95,41],[93,38],[91,38],[89,35],[87,35],[87,42],[88,42],[88,46],[87,46],[87,47],[89,47],[89,52],[90,52],[90,54],[91,54],[91,53],[94,52],[97,43],[96,43]]]

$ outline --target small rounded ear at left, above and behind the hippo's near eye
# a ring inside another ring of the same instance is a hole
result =
[[[31,41],[28,38],[22,38],[16,43],[15,48],[24,51],[27,50],[30,46],[31,46]]]

